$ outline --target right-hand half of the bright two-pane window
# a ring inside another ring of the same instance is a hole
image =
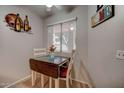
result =
[[[71,21],[62,24],[62,51],[71,52],[75,45],[76,22]]]

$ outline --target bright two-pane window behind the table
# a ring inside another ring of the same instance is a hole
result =
[[[58,52],[70,52],[76,48],[76,21],[56,24],[48,27],[48,46],[55,45]]]

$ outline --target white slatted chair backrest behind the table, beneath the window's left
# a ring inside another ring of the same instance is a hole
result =
[[[47,55],[48,51],[46,48],[34,48],[33,49],[33,55],[34,57],[40,57],[43,55]]]

